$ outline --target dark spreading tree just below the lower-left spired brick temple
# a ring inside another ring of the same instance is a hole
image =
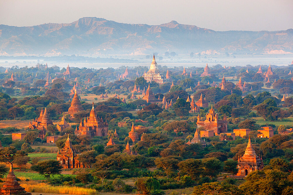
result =
[[[44,175],[46,178],[50,178],[50,175],[56,175],[61,173],[62,166],[56,160],[39,161],[36,165],[31,166],[31,170]]]

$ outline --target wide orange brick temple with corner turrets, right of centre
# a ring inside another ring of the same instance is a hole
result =
[[[206,130],[213,130],[215,135],[228,132],[227,117],[224,115],[223,120],[219,120],[218,113],[215,113],[214,108],[209,110],[209,113],[205,115],[205,120],[200,120],[200,115],[197,116],[197,128],[204,127]]]

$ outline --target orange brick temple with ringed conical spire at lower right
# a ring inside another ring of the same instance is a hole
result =
[[[251,144],[250,136],[243,156],[238,156],[237,176],[246,176],[250,172],[263,169],[263,159],[259,157]]]

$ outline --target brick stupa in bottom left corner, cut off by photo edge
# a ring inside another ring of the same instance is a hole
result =
[[[6,178],[6,181],[0,189],[0,194],[31,195],[31,193],[26,192],[24,190],[25,188],[21,187],[16,181],[16,176],[14,175],[12,169],[12,163],[10,164],[10,170]]]

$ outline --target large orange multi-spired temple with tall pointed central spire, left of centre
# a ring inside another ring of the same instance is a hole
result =
[[[84,118],[84,121],[80,121],[79,129],[75,130],[76,135],[86,135],[90,137],[94,136],[107,136],[108,134],[108,122],[103,121],[103,118],[97,116],[94,106],[91,109],[90,115]]]

